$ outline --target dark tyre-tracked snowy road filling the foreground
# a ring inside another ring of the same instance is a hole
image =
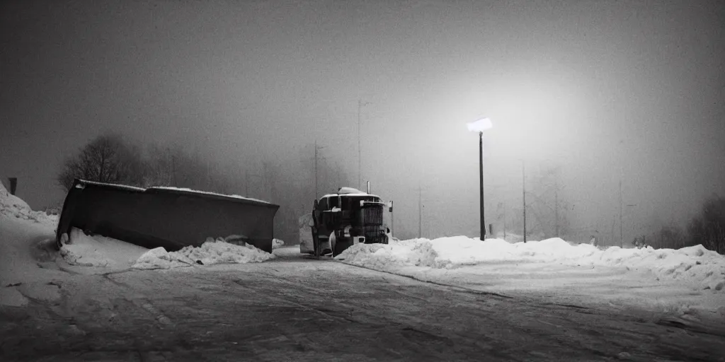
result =
[[[0,307],[1,359],[725,361],[725,332],[699,324],[297,251],[260,264],[69,274],[52,285],[57,298]]]

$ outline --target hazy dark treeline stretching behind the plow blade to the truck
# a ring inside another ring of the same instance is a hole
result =
[[[183,146],[141,147],[121,135],[104,134],[67,156],[57,182],[66,191],[72,187],[73,179],[80,178],[142,188],[174,186],[260,198],[280,205],[275,235],[289,245],[298,242],[298,218],[312,209],[315,198],[313,147],[303,150],[299,159],[268,159],[261,165],[241,162],[230,169]],[[334,161],[319,161],[317,174],[321,193],[347,185],[347,174]]]

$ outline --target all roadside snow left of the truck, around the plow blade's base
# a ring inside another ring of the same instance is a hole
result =
[[[249,245],[223,240],[207,240],[199,248],[172,253],[162,248],[149,251],[110,237],[85,235],[77,229],[64,237],[62,248],[56,251],[58,219],[58,215],[31,210],[0,183],[0,306],[25,306],[28,298],[57,299],[57,285],[77,274],[250,263],[275,257]],[[277,247],[284,244],[275,241]]]

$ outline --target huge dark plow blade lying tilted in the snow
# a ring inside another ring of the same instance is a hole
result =
[[[232,237],[272,252],[278,205],[173,188],[135,188],[75,180],[56,230],[58,247],[73,227],[144,248],[178,251],[207,237]]]

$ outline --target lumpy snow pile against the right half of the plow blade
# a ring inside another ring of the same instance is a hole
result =
[[[195,264],[260,263],[272,258],[275,258],[274,254],[261,251],[254,245],[234,245],[227,243],[222,237],[217,240],[208,237],[198,248],[186,246],[180,251],[167,252],[164,248],[147,251],[133,264],[133,268],[170,269]]]

